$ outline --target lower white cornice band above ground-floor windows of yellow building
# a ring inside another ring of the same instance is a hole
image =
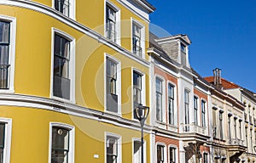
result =
[[[58,113],[79,116],[94,121],[101,121],[112,124],[114,126],[121,126],[132,130],[141,130],[141,126],[138,121],[127,120],[118,115],[88,109],[76,104],[67,104],[51,98],[42,98],[37,96],[12,93],[0,93],[0,105],[55,111]],[[145,124],[144,130],[145,132],[149,133],[152,129],[150,126]]]

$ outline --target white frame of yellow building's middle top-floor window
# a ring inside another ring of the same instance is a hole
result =
[[[109,0],[105,0],[104,1],[104,37],[107,37],[107,24],[106,24],[106,18],[107,18],[107,6],[112,8],[115,11],[115,19],[116,19],[116,24],[115,24],[115,40],[116,43],[121,45],[121,11],[120,9],[114,5],[113,3],[111,3]]]

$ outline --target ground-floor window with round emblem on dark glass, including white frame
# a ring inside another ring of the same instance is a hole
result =
[[[74,127],[50,123],[50,163],[73,163]]]

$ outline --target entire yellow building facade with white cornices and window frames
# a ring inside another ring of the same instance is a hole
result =
[[[153,11],[136,0],[0,2],[0,162],[137,162]]]

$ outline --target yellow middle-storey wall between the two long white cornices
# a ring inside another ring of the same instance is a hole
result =
[[[119,6],[121,8],[121,6]],[[127,11],[126,11],[127,12]],[[84,35],[49,15],[25,8],[0,6],[0,14],[16,17],[15,93],[49,98],[51,79],[51,36],[54,27],[75,38],[76,102],[96,110],[104,110],[104,53],[121,63],[122,111],[131,118],[131,67],[148,75],[148,67],[119,54],[112,48]],[[129,18],[131,14],[125,17]],[[131,30],[130,30],[131,31]],[[130,32],[127,31],[127,32]],[[131,46],[131,40],[129,41]],[[127,44],[127,46],[128,46]],[[148,77],[147,77],[147,105]]]

